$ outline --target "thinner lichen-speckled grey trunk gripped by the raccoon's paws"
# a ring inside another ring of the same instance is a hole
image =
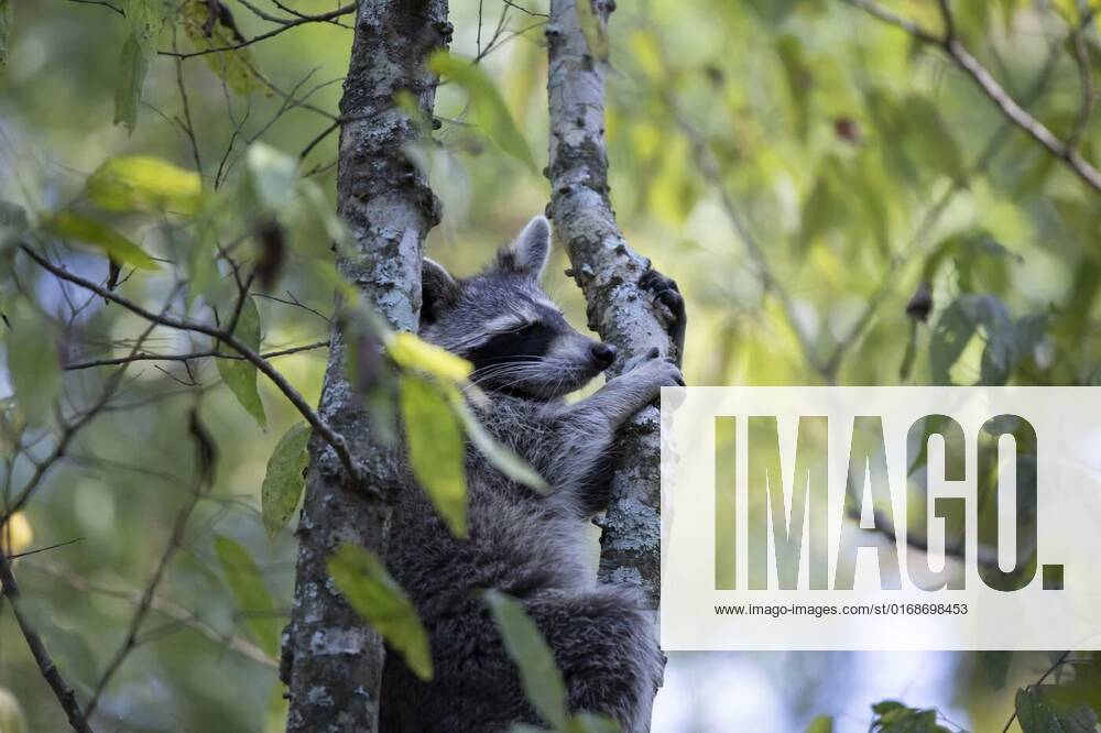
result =
[[[595,0],[593,4],[607,21],[613,3]],[[589,52],[575,0],[552,0],[546,35],[550,214],[585,293],[589,327],[619,349],[619,368],[654,348],[669,355],[673,344],[666,325],[637,284],[650,261],[628,245],[609,200],[604,72]],[[609,378],[617,373],[613,366]],[[625,428],[623,458],[612,478],[603,523],[599,571],[603,582],[642,589],[655,610],[661,590],[658,417],[655,407],[646,407]]]

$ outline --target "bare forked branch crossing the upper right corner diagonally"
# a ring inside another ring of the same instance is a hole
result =
[[[956,62],[956,65],[959,66],[960,69],[971,77],[971,79],[978,85],[979,89],[981,89],[982,92],[986,95],[986,97],[994,102],[1000,110],[1002,110],[1002,114],[1006,119],[1012,121],[1033,140],[1043,145],[1051,155],[1064,161],[1070,169],[1091,188],[1093,188],[1093,190],[1101,192],[1101,172],[1090,165],[1071,145],[1068,145],[1059,140],[1059,138],[1048,130],[1043,122],[1034,118],[1023,107],[1021,107],[1021,105],[1018,105],[1013,97],[1004,88],[1002,88],[990,72],[986,70],[986,67],[983,66],[979,59],[975,58],[971,52],[969,52],[963,44],[955,37],[951,32],[951,10],[948,8],[947,3],[941,3],[947,29],[946,35],[941,37],[924,30],[912,21],[895,15],[891,11],[881,8],[879,4],[871,2],[870,0],[844,1],[850,6],[860,8],[870,15],[906,31],[923,43],[941,48],[946,54],[948,54],[949,58]]]

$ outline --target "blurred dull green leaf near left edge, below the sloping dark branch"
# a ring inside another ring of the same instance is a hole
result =
[[[42,425],[50,420],[62,392],[57,343],[46,318],[29,308],[20,308],[10,320],[8,374],[15,402],[28,423]]]

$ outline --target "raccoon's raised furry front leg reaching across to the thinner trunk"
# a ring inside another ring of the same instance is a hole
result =
[[[663,386],[684,386],[680,370],[653,350],[593,395],[555,416],[558,450],[548,477],[582,516],[607,507],[608,469],[615,436],[635,413],[661,396]]]

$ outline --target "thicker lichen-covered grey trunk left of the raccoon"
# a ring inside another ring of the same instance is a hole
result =
[[[416,125],[392,107],[392,99],[407,89],[432,114],[436,81],[424,63],[449,36],[447,0],[363,0],[340,102],[337,199],[352,253],[340,256],[338,266],[369,306],[403,330],[417,327],[421,250],[439,211],[424,176],[402,150],[416,139]],[[388,451],[371,437],[363,400],[345,376],[339,328],[318,409],[348,440],[367,485],[350,485],[333,449],[314,438],[297,533],[294,606],[283,639],[282,677],[291,697],[286,730],[370,733],[378,730],[382,641],[336,591],[325,566],[344,543],[384,556],[390,492],[396,484]]]

